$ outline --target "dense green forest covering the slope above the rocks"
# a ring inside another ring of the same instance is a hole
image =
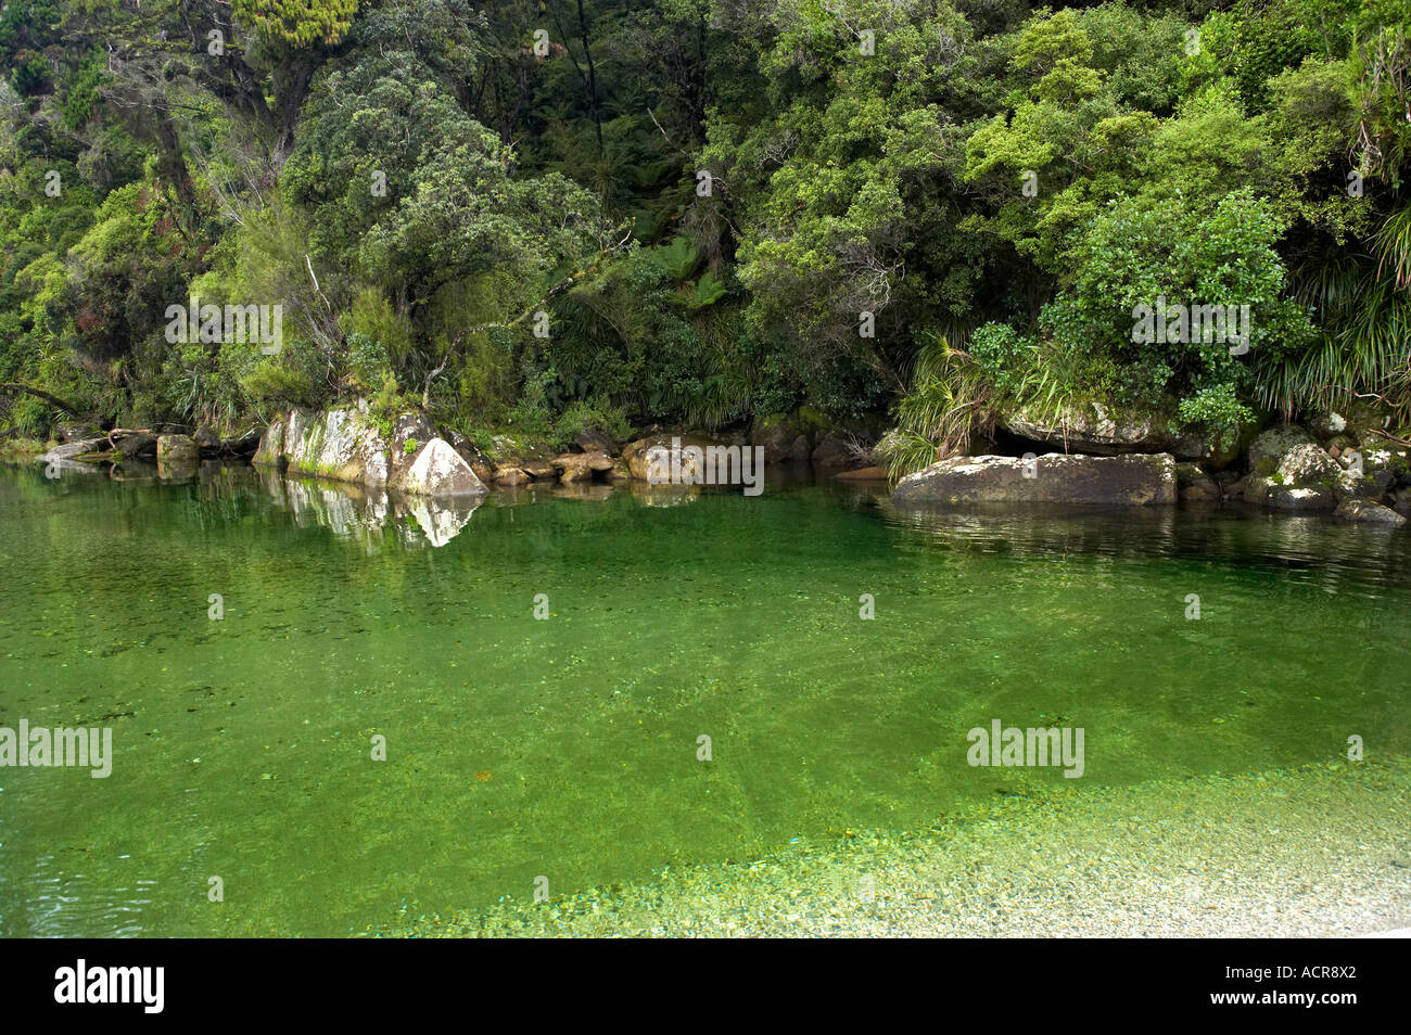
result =
[[[0,429],[803,413],[914,467],[1005,408],[1404,417],[1408,27],[1411,0],[7,0]],[[1157,299],[1243,312],[1242,347],[1141,340]],[[188,305],[279,306],[282,337],[199,307],[174,334]]]

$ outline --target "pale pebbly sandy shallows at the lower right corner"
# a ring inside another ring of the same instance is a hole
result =
[[[854,832],[412,936],[1355,936],[1411,928],[1411,763],[1137,787],[1017,784],[903,836]]]

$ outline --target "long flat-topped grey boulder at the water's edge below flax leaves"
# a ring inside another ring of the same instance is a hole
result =
[[[903,478],[892,498],[899,503],[1168,505],[1175,502],[1175,458],[1168,453],[952,457]]]

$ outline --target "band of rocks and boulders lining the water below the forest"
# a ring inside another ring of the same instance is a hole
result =
[[[978,455],[952,455],[896,484],[900,505],[1170,506],[1177,502],[1246,503],[1284,513],[1397,527],[1411,516],[1411,444],[1376,408],[1325,413],[1302,424],[1274,424],[1230,439],[1174,436],[1154,416],[1115,415],[1098,406],[1061,419],[1000,415],[998,433]],[[365,400],[315,413],[291,409],[268,427],[234,439],[65,424],[38,458],[55,470],[92,470],[155,458],[161,477],[186,477],[202,460],[250,457],[254,464],[373,492],[430,499],[483,496],[491,488],[555,484],[652,482],[653,457],[683,475],[682,491],[714,484],[701,458],[741,458],[758,467],[803,465],[852,481],[888,478],[886,434],[827,427],[801,409],[748,429],[704,433],[648,427],[617,440],[586,430],[567,450],[502,434],[471,441],[423,416],[380,417]],[[751,468],[746,467],[746,475]]]

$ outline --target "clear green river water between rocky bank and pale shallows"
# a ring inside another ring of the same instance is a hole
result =
[[[1411,749],[1404,533],[577,495],[0,471],[0,726],[116,756],[0,768],[0,935],[391,929],[1062,780],[969,767],[995,718],[1079,787]]]

